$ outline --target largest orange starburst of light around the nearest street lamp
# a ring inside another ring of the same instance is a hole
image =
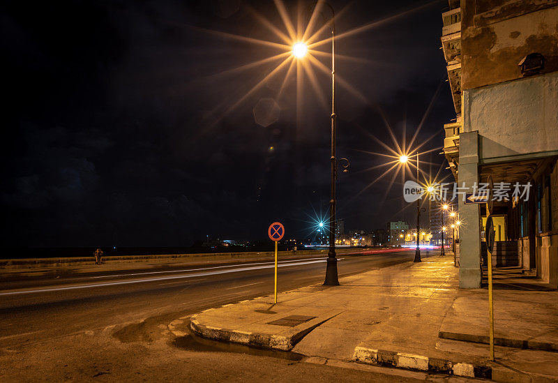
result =
[[[291,77],[292,75],[296,77],[297,125],[301,125],[300,119],[301,115],[303,114],[303,82],[305,80],[308,80],[313,93],[315,93],[315,99],[317,99],[319,103],[322,104],[322,107],[327,107],[325,100],[326,96],[324,96],[324,91],[323,89],[321,89],[322,82],[319,81],[319,79],[317,78],[316,72],[331,77],[332,54],[331,52],[317,50],[317,47],[323,47],[324,45],[331,43],[332,38],[330,31],[332,21],[338,20],[342,15],[344,15],[347,7],[335,13],[335,20],[329,17],[329,15],[327,15],[326,20],[324,20],[322,19],[322,17],[319,17],[319,15],[327,14],[326,9],[324,9],[326,8],[327,3],[324,0],[318,0],[315,3],[315,7],[311,10],[310,15],[305,13],[301,9],[301,7],[297,7],[296,13],[290,13],[282,0],[273,0],[273,3],[275,3],[276,10],[282,21],[282,26],[274,24],[269,20],[268,17],[265,17],[264,15],[262,15],[262,13],[259,13],[258,10],[255,10],[251,6],[246,6],[248,13],[252,15],[252,17],[254,17],[255,20],[262,27],[264,27],[266,31],[270,33],[270,36],[273,36],[273,38],[270,38],[269,40],[241,36],[224,31],[197,28],[201,31],[217,36],[218,38],[236,40],[241,43],[248,43],[250,45],[261,47],[262,52],[264,50],[266,50],[267,52],[275,51],[273,54],[262,59],[246,63],[236,68],[230,68],[211,76],[213,78],[216,78],[222,77],[224,75],[236,75],[246,70],[255,70],[260,66],[271,67],[269,70],[266,71],[267,75],[259,79],[255,84],[252,84],[251,87],[248,88],[246,93],[235,95],[234,99],[232,100],[232,105],[227,102],[223,102],[221,105],[218,105],[215,110],[213,110],[213,114],[218,114],[220,116],[216,118],[215,123],[217,123],[218,121],[220,121],[220,119],[223,119],[228,114],[236,110],[240,105],[245,103],[246,100],[250,98],[250,96],[253,96],[266,84],[269,84],[269,82],[274,77],[280,76],[284,77],[282,78],[282,83],[280,84],[277,92],[277,100],[280,99],[282,93],[284,93],[289,77]],[[435,3],[437,3],[437,1],[431,1],[416,8],[403,10],[400,13],[390,15],[388,17],[385,17],[384,19],[375,20],[368,24],[355,27],[354,29],[349,29],[348,31],[340,33],[340,35],[338,35],[338,37],[336,38],[349,38],[350,36],[354,36],[358,33],[369,31],[370,29],[380,27],[385,22],[394,22],[399,17],[405,17],[410,13],[414,13],[417,10],[425,8],[425,6],[430,6]],[[292,20],[296,20],[296,23],[294,23]],[[306,24],[304,20],[308,20]],[[324,21],[319,22],[318,20]],[[370,61],[368,60],[364,60],[359,57],[349,57],[338,53],[335,53],[335,58],[345,61],[360,63],[365,62],[370,64]],[[321,60],[324,60],[325,63]],[[361,93],[361,91],[357,90],[355,87],[349,84],[343,78],[342,74],[340,75],[336,73],[335,77],[339,86],[342,87],[345,91],[348,91],[352,96],[354,96],[354,98],[356,98],[360,102],[369,104],[368,98],[366,98],[363,93]]]

